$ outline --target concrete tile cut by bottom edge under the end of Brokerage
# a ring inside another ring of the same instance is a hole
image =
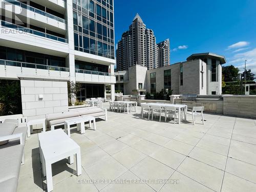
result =
[[[178,182],[178,183],[177,183]],[[190,179],[179,172],[175,172],[164,184],[160,192],[214,192],[210,188]]]

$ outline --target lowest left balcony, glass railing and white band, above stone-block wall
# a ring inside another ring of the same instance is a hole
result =
[[[69,68],[39,65],[0,59],[0,77],[17,79],[17,75],[38,75],[48,77],[69,77]]]

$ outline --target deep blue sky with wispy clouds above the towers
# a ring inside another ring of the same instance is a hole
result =
[[[170,39],[170,63],[193,53],[213,52],[256,74],[255,0],[114,0],[115,43],[128,30],[136,13],[157,42]]]

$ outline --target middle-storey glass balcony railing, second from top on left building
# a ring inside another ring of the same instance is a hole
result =
[[[1,20],[1,25],[3,27],[15,29],[19,33],[31,33],[31,34],[38,35],[38,36],[41,36],[41,37],[46,37],[46,38],[50,38],[50,39],[57,40],[57,41],[60,41],[60,42],[68,43],[68,39],[57,37],[55,35],[50,35],[50,34],[47,34],[47,33],[40,32],[40,31],[36,31],[36,30],[29,29],[29,28],[26,28],[26,27],[18,26],[18,25],[9,23],[9,22],[5,22],[4,20]]]

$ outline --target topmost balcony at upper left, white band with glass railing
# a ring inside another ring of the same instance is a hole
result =
[[[40,9],[36,9],[16,0],[0,1],[2,3],[2,8],[9,12],[13,12],[13,8],[6,5],[14,5],[15,14],[19,15],[19,19],[23,20],[23,22],[27,22],[27,18],[29,18],[31,25],[42,28],[46,27],[51,31],[55,31],[61,34],[66,33],[66,20],[63,18],[57,17]],[[22,9],[26,9],[27,11],[22,11]]]

